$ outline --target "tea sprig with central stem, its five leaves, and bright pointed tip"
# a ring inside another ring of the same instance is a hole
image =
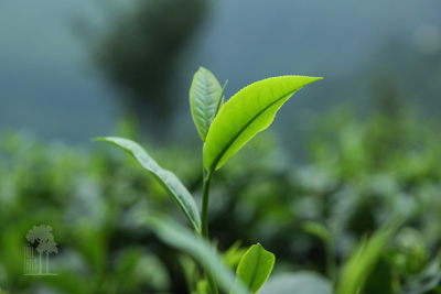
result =
[[[164,216],[149,216],[147,221],[168,243],[195,257],[207,269],[209,293],[218,293],[217,284],[232,293],[257,293],[267,281],[275,264],[275,255],[255,244],[237,266],[233,282],[217,254],[207,247],[209,187],[214,174],[257,133],[267,129],[280,107],[303,86],[319,77],[281,76],[251,84],[224,104],[224,90],[216,77],[200,68],[190,89],[190,105],[194,123],[203,141],[203,188],[201,213],[193,196],[170,171],[162,168],[139,144],[122,138],[99,138],[129,152],[161,183],[193,227],[195,239]],[[233,286],[233,288],[232,288]]]

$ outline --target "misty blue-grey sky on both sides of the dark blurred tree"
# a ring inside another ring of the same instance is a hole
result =
[[[187,99],[200,65],[229,80],[229,97],[271,75],[349,75],[391,36],[422,51],[439,50],[441,40],[438,0],[213,3],[182,58],[179,99]],[[121,115],[116,94],[73,29],[82,20],[99,26],[100,9],[90,0],[0,1],[0,130],[88,142],[115,128]]]

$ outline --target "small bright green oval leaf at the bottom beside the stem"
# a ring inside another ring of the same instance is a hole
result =
[[[250,293],[257,293],[267,282],[275,261],[275,254],[265,250],[261,244],[251,246],[237,266],[237,280],[241,281]]]

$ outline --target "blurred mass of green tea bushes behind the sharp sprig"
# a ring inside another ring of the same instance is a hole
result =
[[[127,126],[120,134],[139,141]],[[185,142],[154,150],[200,203],[201,151]],[[341,261],[363,236],[406,213],[406,226],[383,252],[365,293],[397,293],[408,279],[418,284],[429,261],[439,263],[439,127],[409,113],[362,121],[340,109],[320,119],[306,151],[306,163],[290,164],[289,151],[268,132],[216,174],[209,226],[219,250],[237,239],[244,246],[260,241],[275,252],[276,272],[326,275],[325,248],[303,230],[305,221],[330,230],[333,258]],[[82,150],[9,131],[0,135],[0,288],[186,293],[179,262],[185,259],[133,222],[140,210],[180,217],[135,160],[99,144]],[[53,228],[58,253],[49,258],[50,269],[58,275],[23,274],[25,235],[41,224]]]

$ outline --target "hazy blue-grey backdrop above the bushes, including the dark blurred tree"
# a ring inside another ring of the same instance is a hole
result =
[[[440,11],[437,0],[1,1],[0,129],[88,144],[135,112],[165,140],[196,138],[198,66],[229,80],[226,97],[269,76],[323,76],[276,120],[287,142],[333,106],[378,107],[379,91],[438,115]]]

